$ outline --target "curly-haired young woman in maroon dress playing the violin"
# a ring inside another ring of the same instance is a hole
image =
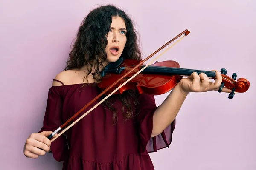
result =
[[[101,92],[96,83],[102,69],[119,57],[141,59],[133,23],[115,6],[96,8],[81,23],[67,66],[52,82],[43,127],[26,140],[26,157],[51,152],[64,161],[63,170],[154,170],[148,153],[169,147],[189,92],[218,90],[222,81],[218,71],[215,83],[193,73],[158,107],[154,96],[137,91],[113,95],[51,143],[47,136]]]

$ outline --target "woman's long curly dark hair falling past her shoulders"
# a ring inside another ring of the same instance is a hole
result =
[[[100,73],[102,68],[104,68],[103,62],[107,59],[105,52],[106,45],[108,44],[106,34],[109,32],[112,17],[122,17],[127,29],[127,42],[121,57],[124,59],[141,59],[141,52],[133,21],[124,11],[116,6],[105,5],[90,11],[82,21],[64,71],[81,69],[86,65],[88,73],[93,75],[96,82],[101,81],[102,77]],[[92,67],[95,69],[93,73]],[[87,77],[84,78],[87,79]],[[105,100],[105,102],[102,102],[106,108],[113,111],[113,121],[117,118],[116,108],[114,108],[117,98],[123,104],[122,112],[125,120],[131,118],[133,108],[138,105],[136,91],[128,90],[122,95],[114,95]]]

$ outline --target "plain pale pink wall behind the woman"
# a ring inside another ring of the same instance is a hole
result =
[[[23,145],[42,126],[47,92],[64,68],[81,20],[105,3],[134,19],[144,57],[189,29],[189,36],[159,61],[209,71],[226,68],[228,76],[236,72],[251,83],[231,100],[216,91],[189,94],[170,148],[150,154],[155,169],[255,170],[255,0],[1,0],[0,169],[61,169],[50,153],[26,158]],[[167,95],[156,96],[157,105]]]

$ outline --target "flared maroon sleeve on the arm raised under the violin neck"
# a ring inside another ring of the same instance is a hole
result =
[[[139,122],[139,135],[140,135],[140,153],[147,151],[157,152],[157,150],[169,147],[172,142],[172,133],[175,129],[175,120],[163,130],[162,133],[155,137],[151,137],[153,130],[153,115],[157,109],[153,95],[140,94],[138,101],[140,108],[137,115]]]

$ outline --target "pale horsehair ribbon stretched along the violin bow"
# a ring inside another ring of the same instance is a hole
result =
[[[50,140],[50,142],[53,142],[55,139],[58,138],[58,136],[61,136],[61,134],[63,134],[64,132],[66,132],[70,127],[72,127],[73,125],[76,124],[76,122],[78,122],[79,120],[81,120],[84,116],[86,116],[88,113],[90,113],[93,109],[95,109],[98,105],[100,105],[102,102],[104,102],[106,99],[108,99],[112,94],[114,94],[116,91],[119,90],[119,88],[122,88],[122,86],[124,86],[126,83],[128,83],[131,79],[133,79],[134,77],[137,76],[137,74],[139,74],[141,71],[143,71],[145,68],[147,68],[150,64],[152,64],[156,59],[158,59],[160,56],[162,56],[163,54],[166,53],[166,51],[168,51],[170,48],[172,48],[174,45],[176,45],[178,42],[180,42],[184,37],[186,37],[186,35],[183,35],[183,37],[181,37],[179,40],[177,40],[175,43],[173,43],[169,48],[167,48],[165,51],[163,51],[163,53],[161,53],[159,56],[157,56],[155,59],[153,59],[151,62],[148,62],[147,65],[145,65],[145,67],[143,67],[142,69],[140,69],[140,71],[138,71],[136,74],[134,74],[131,78],[129,78],[128,80],[126,80],[124,83],[122,83],[122,85],[120,85],[118,88],[116,88],[114,91],[112,91],[110,94],[108,94],[108,96],[106,96],[104,99],[102,99],[100,102],[98,102],[96,105],[94,105],[89,111],[87,111],[86,113],[84,113],[82,116],[80,116],[78,119],[76,119],[76,121],[74,121],[72,124],[70,124],[68,127],[66,127],[64,130],[61,131],[61,133],[58,133],[58,135],[55,138],[52,138]]]

